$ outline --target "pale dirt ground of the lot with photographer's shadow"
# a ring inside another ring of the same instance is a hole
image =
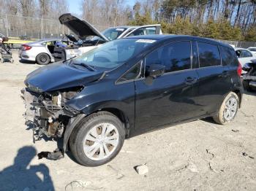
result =
[[[0,63],[0,190],[256,190],[256,93],[245,93],[236,120],[197,120],[127,139],[106,165],[87,168],[65,155],[37,159],[54,141],[32,143],[20,89],[34,63]],[[136,165],[148,174],[136,173]]]

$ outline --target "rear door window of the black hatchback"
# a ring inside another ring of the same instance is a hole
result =
[[[204,42],[197,42],[197,47],[200,68],[218,66],[221,64],[219,49],[216,45]]]

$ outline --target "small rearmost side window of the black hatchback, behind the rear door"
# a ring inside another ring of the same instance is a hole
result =
[[[238,59],[233,48],[219,46],[219,49],[222,54],[222,65],[238,66]]]

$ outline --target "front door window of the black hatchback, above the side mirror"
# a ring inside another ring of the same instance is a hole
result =
[[[191,44],[187,42],[172,42],[159,47],[146,56],[146,69],[151,64],[165,65],[165,73],[191,69]]]

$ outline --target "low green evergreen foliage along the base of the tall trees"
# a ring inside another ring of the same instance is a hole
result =
[[[130,20],[128,24],[142,26],[153,23],[159,22],[152,20],[151,15],[146,12],[145,15],[136,13],[135,18]],[[209,19],[207,23],[192,23],[188,17],[177,16],[173,23],[161,20],[160,24],[164,34],[186,34],[211,39],[241,40],[241,29],[230,26],[230,23],[225,19],[217,21]],[[247,39],[253,41],[253,37],[256,36],[255,33],[255,28],[252,28],[247,35]]]

